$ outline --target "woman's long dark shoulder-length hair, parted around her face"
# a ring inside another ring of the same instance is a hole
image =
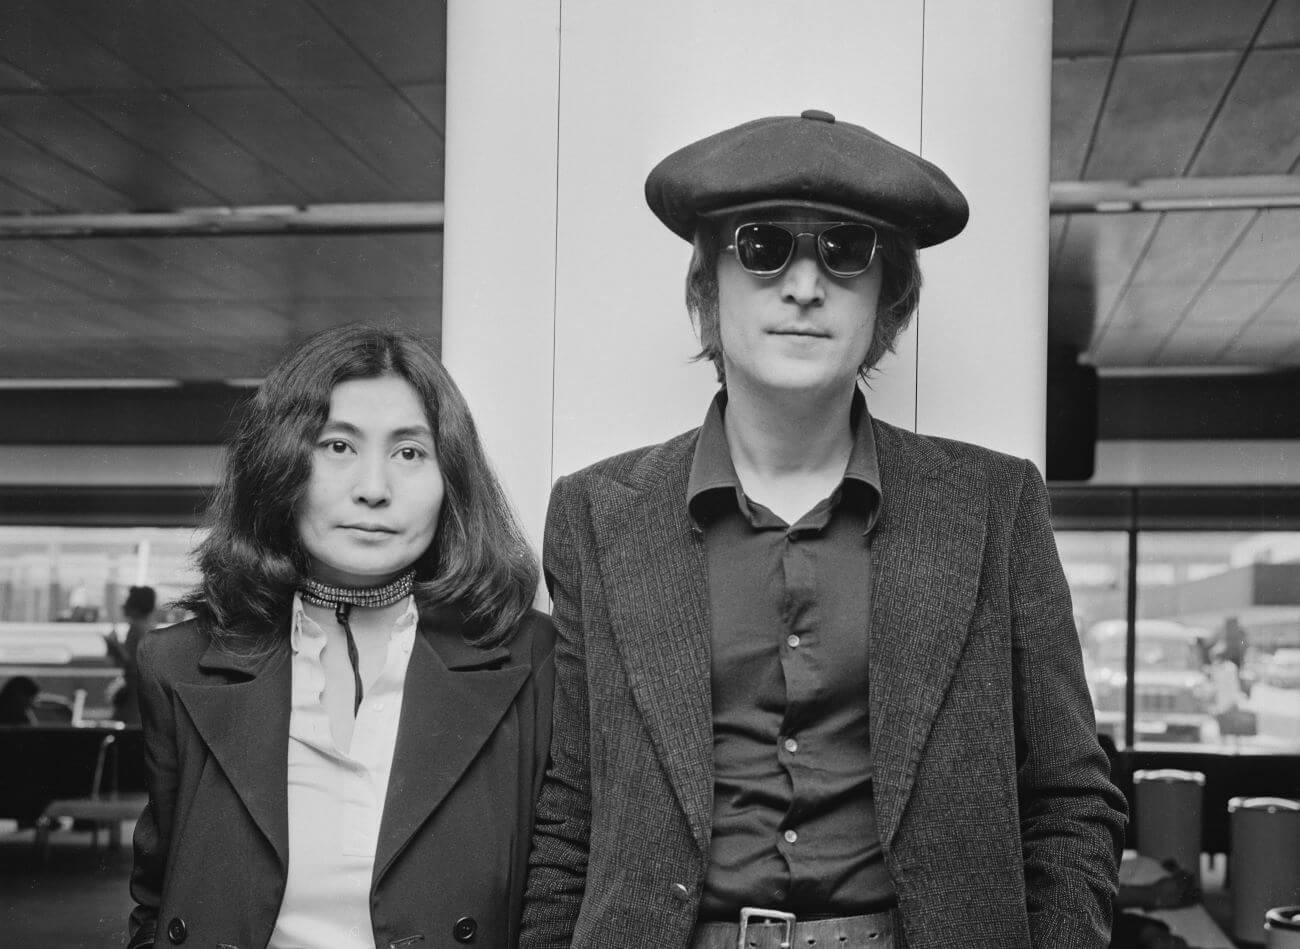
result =
[[[203,575],[181,606],[229,649],[261,651],[286,627],[307,572],[296,510],[330,394],[351,378],[398,376],[415,389],[433,430],[445,497],[433,543],[416,560],[421,610],[454,606],[481,632],[510,638],[537,590],[533,555],[478,442],[464,396],[428,343],[365,324],[318,333],[285,356],[251,399],[226,450],[208,507]]]

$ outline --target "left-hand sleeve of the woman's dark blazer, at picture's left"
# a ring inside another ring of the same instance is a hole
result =
[[[172,820],[177,797],[176,718],[172,689],[159,673],[157,640],[143,637],[136,662],[140,672],[140,724],[144,729],[144,768],[148,803],[135,824],[135,864],[131,868],[131,910],[127,949],[153,945]]]

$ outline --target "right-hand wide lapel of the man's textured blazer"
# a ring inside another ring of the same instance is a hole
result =
[[[937,447],[876,424],[870,707],[876,822],[898,828],[975,610],[988,500]]]

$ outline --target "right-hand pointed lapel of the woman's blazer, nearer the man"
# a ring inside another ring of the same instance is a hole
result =
[[[464,632],[450,608],[420,618],[374,854],[376,883],[446,800],[530,675],[528,666],[504,664],[507,649],[471,646]]]

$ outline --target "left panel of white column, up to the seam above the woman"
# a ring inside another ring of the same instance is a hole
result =
[[[442,358],[540,546],[551,484],[559,0],[447,4]]]

